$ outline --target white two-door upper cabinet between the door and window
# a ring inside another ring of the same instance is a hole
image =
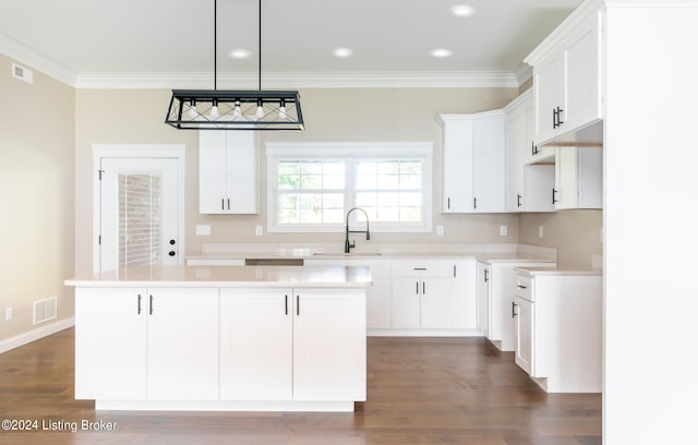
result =
[[[198,212],[256,214],[257,147],[252,131],[198,131]]]

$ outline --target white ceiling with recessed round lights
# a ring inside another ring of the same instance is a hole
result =
[[[262,0],[264,73],[514,73],[581,0]],[[476,13],[457,16],[468,4]],[[257,73],[256,0],[218,0],[217,72]],[[0,0],[0,50],[75,76],[214,72],[214,0]],[[333,56],[349,48],[351,57]],[[250,57],[233,59],[233,49]],[[434,49],[450,57],[436,58]],[[5,51],[9,52],[9,51]],[[12,57],[12,55],[10,55]]]

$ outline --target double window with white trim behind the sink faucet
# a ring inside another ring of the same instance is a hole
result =
[[[431,143],[268,143],[268,230],[342,231],[356,206],[372,231],[430,231],[431,157]]]

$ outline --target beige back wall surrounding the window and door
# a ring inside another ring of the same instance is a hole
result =
[[[518,94],[517,88],[338,88],[301,92],[304,132],[263,132],[261,143],[336,141],[432,141],[434,143],[434,233],[375,233],[374,242],[517,242],[516,215],[442,215],[440,112],[476,112],[501,108]],[[76,92],[76,222],[77,269],[92,268],[92,144],[181,143],[186,145],[185,252],[197,254],[205,242],[336,242],[341,233],[267,233],[265,163],[260,163],[258,215],[200,215],[197,133],[173,130],[163,123],[169,91],[79,89]],[[98,111],[97,111],[98,110]],[[263,153],[263,152],[262,152]],[[210,225],[212,236],[195,236],[196,225]],[[262,237],[255,226],[264,227]],[[498,234],[500,225],[508,234]]]

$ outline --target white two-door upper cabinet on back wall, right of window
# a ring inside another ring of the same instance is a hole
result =
[[[444,213],[505,212],[505,112],[440,115]]]

